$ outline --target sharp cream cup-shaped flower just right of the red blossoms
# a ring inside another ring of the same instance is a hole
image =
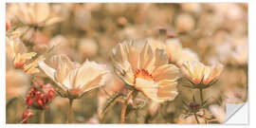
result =
[[[39,66],[57,84],[57,91],[64,98],[81,98],[86,92],[98,88],[105,82],[105,65],[85,61],[83,64],[71,62],[64,55],[55,55],[49,64],[40,62]]]

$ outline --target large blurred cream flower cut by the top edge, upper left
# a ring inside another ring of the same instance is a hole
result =
[[[33,4],[12,4],[15,16],[23,23],[29,26],[49,26],[62,21],[62,18],[54,15],[50,11],[47,3]]]

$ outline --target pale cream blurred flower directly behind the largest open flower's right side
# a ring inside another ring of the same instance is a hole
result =
[[[190,48],[182,48],[178,39],[168,39],[166,41],[166,52],[171,63],[181,66],[185,62],[199,61],[195,52]]]

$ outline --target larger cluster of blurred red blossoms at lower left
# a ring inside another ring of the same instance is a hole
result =
[[[52,101],[55,91],[50,83],[45,84],[44,81],[37,80],[27,94],[27,106],[37,109],[46,109],[47,104]]]

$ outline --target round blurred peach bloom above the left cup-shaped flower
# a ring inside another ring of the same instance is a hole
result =
[[[93,57],[98,53],[98,45],[93,39],[81,39],[78,48],[82,59]]]

